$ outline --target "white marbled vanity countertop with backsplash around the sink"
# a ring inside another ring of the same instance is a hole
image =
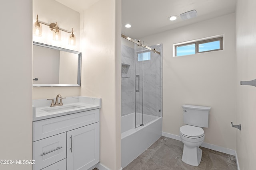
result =
[[[55,101],[55,99],[54,99]],[[63,106],[53,106],[51,105],[51,100],[39,99],[33,100],[33,121],[39,121],[43,119],[49,119],[52,117],[58,117],[73,113],[79,113],[82,111],[88,111],[92,109],[101,108],[100,98],[89,98],[85,96],[74,96],[66,97],[62,99]],[[63,107],[78,106],[72,109],[62,109]],[[45,111],[47,109],[52,109],[51,112]],[[57,111],[54,111],[56,109]],[[58,111],[58,109],[62,109]]]

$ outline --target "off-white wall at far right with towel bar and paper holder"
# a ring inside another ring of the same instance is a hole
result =
[[[236,53],[238,109],[236,124],[236,152],[240,170],[254,170],[256,160],[256,88],[240,86],[240,81],[256,78],[256,1],[237,0],[236,4]]]

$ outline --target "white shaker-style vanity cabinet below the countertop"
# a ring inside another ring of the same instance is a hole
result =
[[[100,159],[99,109],[33,122],[33,170],[87,170]]]

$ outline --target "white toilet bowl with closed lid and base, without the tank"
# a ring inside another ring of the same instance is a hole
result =
[[[181,160],[186,164],[198,166],[202,158],[202,150],[199,146],[204,141],[204,130],[190,125],[182,126],[180,139],[184,144]]]

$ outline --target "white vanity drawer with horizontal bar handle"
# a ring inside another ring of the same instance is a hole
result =
[[[33,170],[40,170],[66,158],[66,132],[33,142]]]

